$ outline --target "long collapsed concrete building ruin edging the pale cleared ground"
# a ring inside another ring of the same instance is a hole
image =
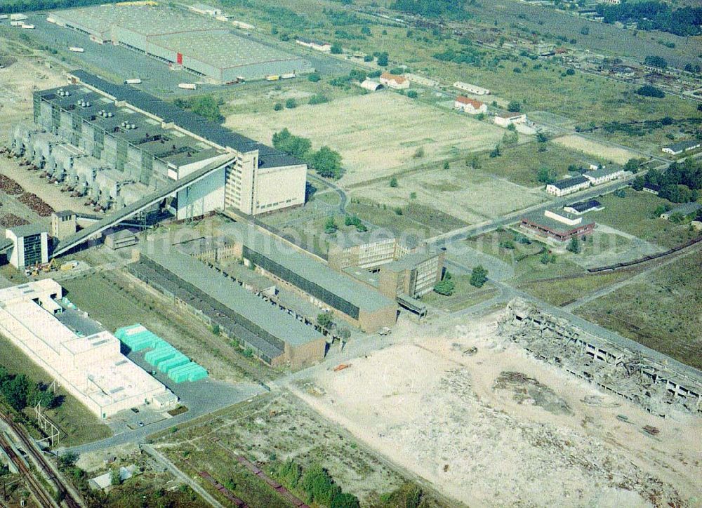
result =
[[[629,399],[650,413],[702,410],[702,385],[658,361],[595,337],[516,299],[498,323],[501,337],[516,342],[539,359]]]

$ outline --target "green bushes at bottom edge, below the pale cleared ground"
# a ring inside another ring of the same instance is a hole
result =
[[[329,472],[318,464],[303,471],[300,464],[288,460],[278,467],[277,476],[290,488],[303,490],[307,494],[307,502],[329,508],[360,506],[358,497],[343,492]]]

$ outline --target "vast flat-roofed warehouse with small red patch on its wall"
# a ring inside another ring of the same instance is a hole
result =
[[[51,13],[48,20],[183,68],[214,83],[311,72],[310,62],[230,32],[230,26],[157,6],[104,5]]]

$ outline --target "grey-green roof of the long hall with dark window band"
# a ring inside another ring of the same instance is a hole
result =
[[[333,295],[343,298],[352,305],[366,312],[376,312],[379,309],[395,305],[376,290],[367,288],[343,274],[315,261],[310,256],[293,250],[283,241],[269,234],[263,234],[256,228],[236,222],[232,225],[237,230],[239,238],[245,246],[255,250],[278,265],[289,269],[307,281],[317,284]]]

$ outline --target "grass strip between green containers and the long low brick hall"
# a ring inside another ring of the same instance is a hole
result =
[[[183,354],[204,366],[219,380],[238,382],[245,370],[239,363],[247,361],[223,337],[216,337],[204,323],[190,316],[178,316],[162,300],[118,272],[63,281],[68,298],[114,333],[121,326],[141,323]],[[109,295],[109,304],[105,300]],[[272,371],[257,367],[260,373]]]

